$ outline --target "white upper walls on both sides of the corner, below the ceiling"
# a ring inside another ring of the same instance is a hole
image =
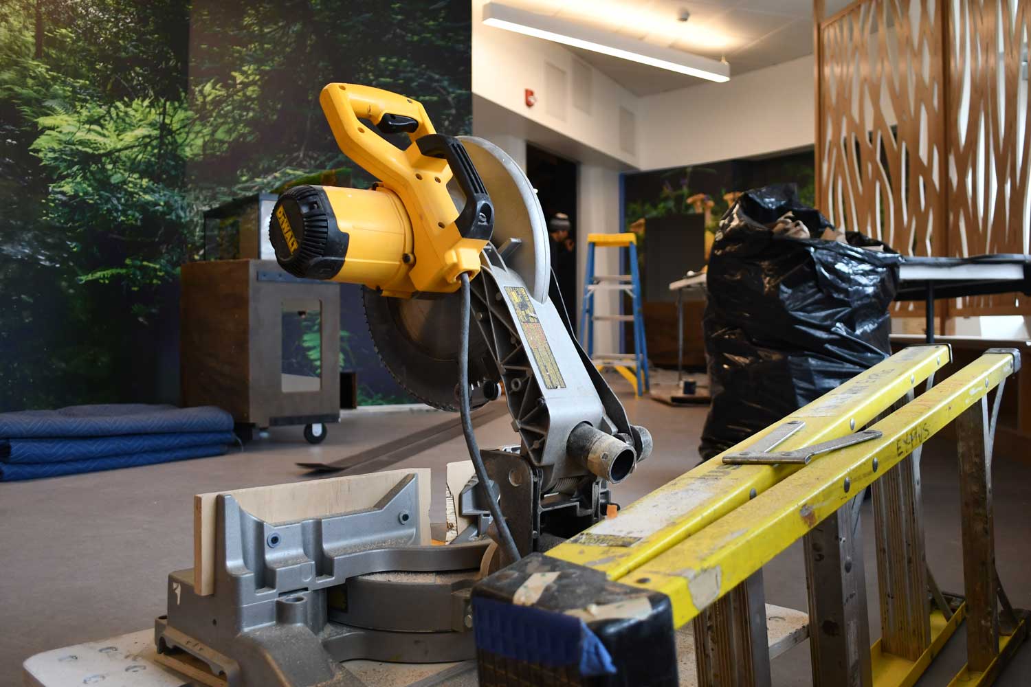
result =
[[[624,170],[747,158],[813,142],[811,55],[734,76],[726,83],[699,82],[641,98],[562,45],[484,26],[485,2],[472,0],[472,93],[479,101],[478,108],[474,105],[473,128],[477,135],[492,138],[514,128],[520,130],[517,136],[569,154],[558,149],[558,141],[538,140],[541,136],[536,134],[543,130],[552,138],[575,142],[581,148],[576,160],[604,158]],[[590,73],[590,113],[573,104],[574,63]],[[557,93],[548,92],[548,64],[566,74],[565,88]],[[533,107],[526,106],[524,89],[537,95]],[[550,113],[558,97],[563,100],[558,107],[563,117]],[[621,108],[634,115],[634,151],[621,145]],[[513,123],[513,114],[522,122]],[[499,124],[485,125],[489,118]],[[532,129],[537,132],[529,135]]]

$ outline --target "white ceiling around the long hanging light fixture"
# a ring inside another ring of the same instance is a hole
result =
[[[648,43],[730,63],[731,78],[812,54],[812,0],[500,0]],[[826,0],[828,15],[850,0]],[[681,9],[691,12],[677,21]],[[685,74],[569,48],[638,96],[704,82]]]

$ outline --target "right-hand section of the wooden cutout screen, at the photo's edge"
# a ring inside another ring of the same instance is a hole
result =
[[[949,248],[954,255],[1028,252],[1031,137],[1027,0],[950,0]],[[1027,314],[1031,299],[983,296],[955,315]]]

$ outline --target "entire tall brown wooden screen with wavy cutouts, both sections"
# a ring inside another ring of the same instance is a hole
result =
[[[822,21],[821,209],[905,254],[1028,252],[1029,35],[1027,0],[860,0]],[[1024,301],[949,311],[1031,313]]]

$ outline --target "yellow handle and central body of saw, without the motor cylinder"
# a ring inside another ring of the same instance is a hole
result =
[[[483,199],[470,198],[475,196],[470,192],[477,191],[478,177],[471,163],[468,169],[461,164],[459,156],[464,150],[440,145],[424,145],[421,149],[417,144],[424,136],[430,140],[437,138],[422,104],[389,91],[354,83],[330,83],[323,89],[319,102],[340,150],[397,194],[408,213],[415,254],[415,264],[408,273],[411,290],[452,293],[459,287],[460,274],[468,273],[470,277],[478,274],[479,251],[490,239],[493,226],[490,200],[487,199],[485,215],[479,211]],[[359,117],[376,126],[384,117],[391,123],[403,118],[414,122],[414,130],[408,131],[411,145],[405,150],[397,148],[370,131]],[[458,180],[463,182],[466,204],[477,208],[472,212],[473,224],[463,222],[462,228],[458,222],[460,213],[447,193],[447,182],[455,176],[454,167],[460,168]]]

